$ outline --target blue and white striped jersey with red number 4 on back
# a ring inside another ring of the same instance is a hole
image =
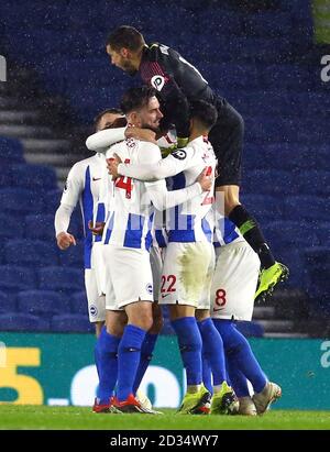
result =
[[[114,144],[107,158],[118,154],[127,166],[156,164],[162,159],[160,147],[153,143],[128,139]],[[194,180],[195,183],[195,180]],[[199,198],[198,183],[180,190],[167,191],[165,180],[141,181],[121,176],[112,181],[112,200],[103,233],[105,244],[120,247],[150,250],[155,209],[164,210],[184,200]]]

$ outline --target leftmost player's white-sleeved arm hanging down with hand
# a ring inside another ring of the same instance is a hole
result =
[[[77,202],[81,196],[84,189],[84,180],[81,177],[80,168],[74,165],[68,174],[61,205],[55,213],[54,227],[57,246],[61,250],[66,250],[70,245],[76,244],[76,239],[73,234],[67,232],[72,213],[77,206]]]

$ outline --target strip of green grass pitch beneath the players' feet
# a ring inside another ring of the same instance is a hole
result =
[[[0,429],[42,430],[330,430],[330,411],[273,410],[242,416],[96,415],[90,408],[0,405]]]

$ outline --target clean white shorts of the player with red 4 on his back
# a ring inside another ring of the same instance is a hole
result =
[[[121,310],[135,301],[153,301],[150,254],[144,250],[103,245],[106,308]]]

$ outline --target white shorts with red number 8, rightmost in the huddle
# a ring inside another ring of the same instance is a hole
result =
[[[220,254],[211,288],[211,317],[250,321],[260,271],[258,256],[245,241],[218,250]]]

